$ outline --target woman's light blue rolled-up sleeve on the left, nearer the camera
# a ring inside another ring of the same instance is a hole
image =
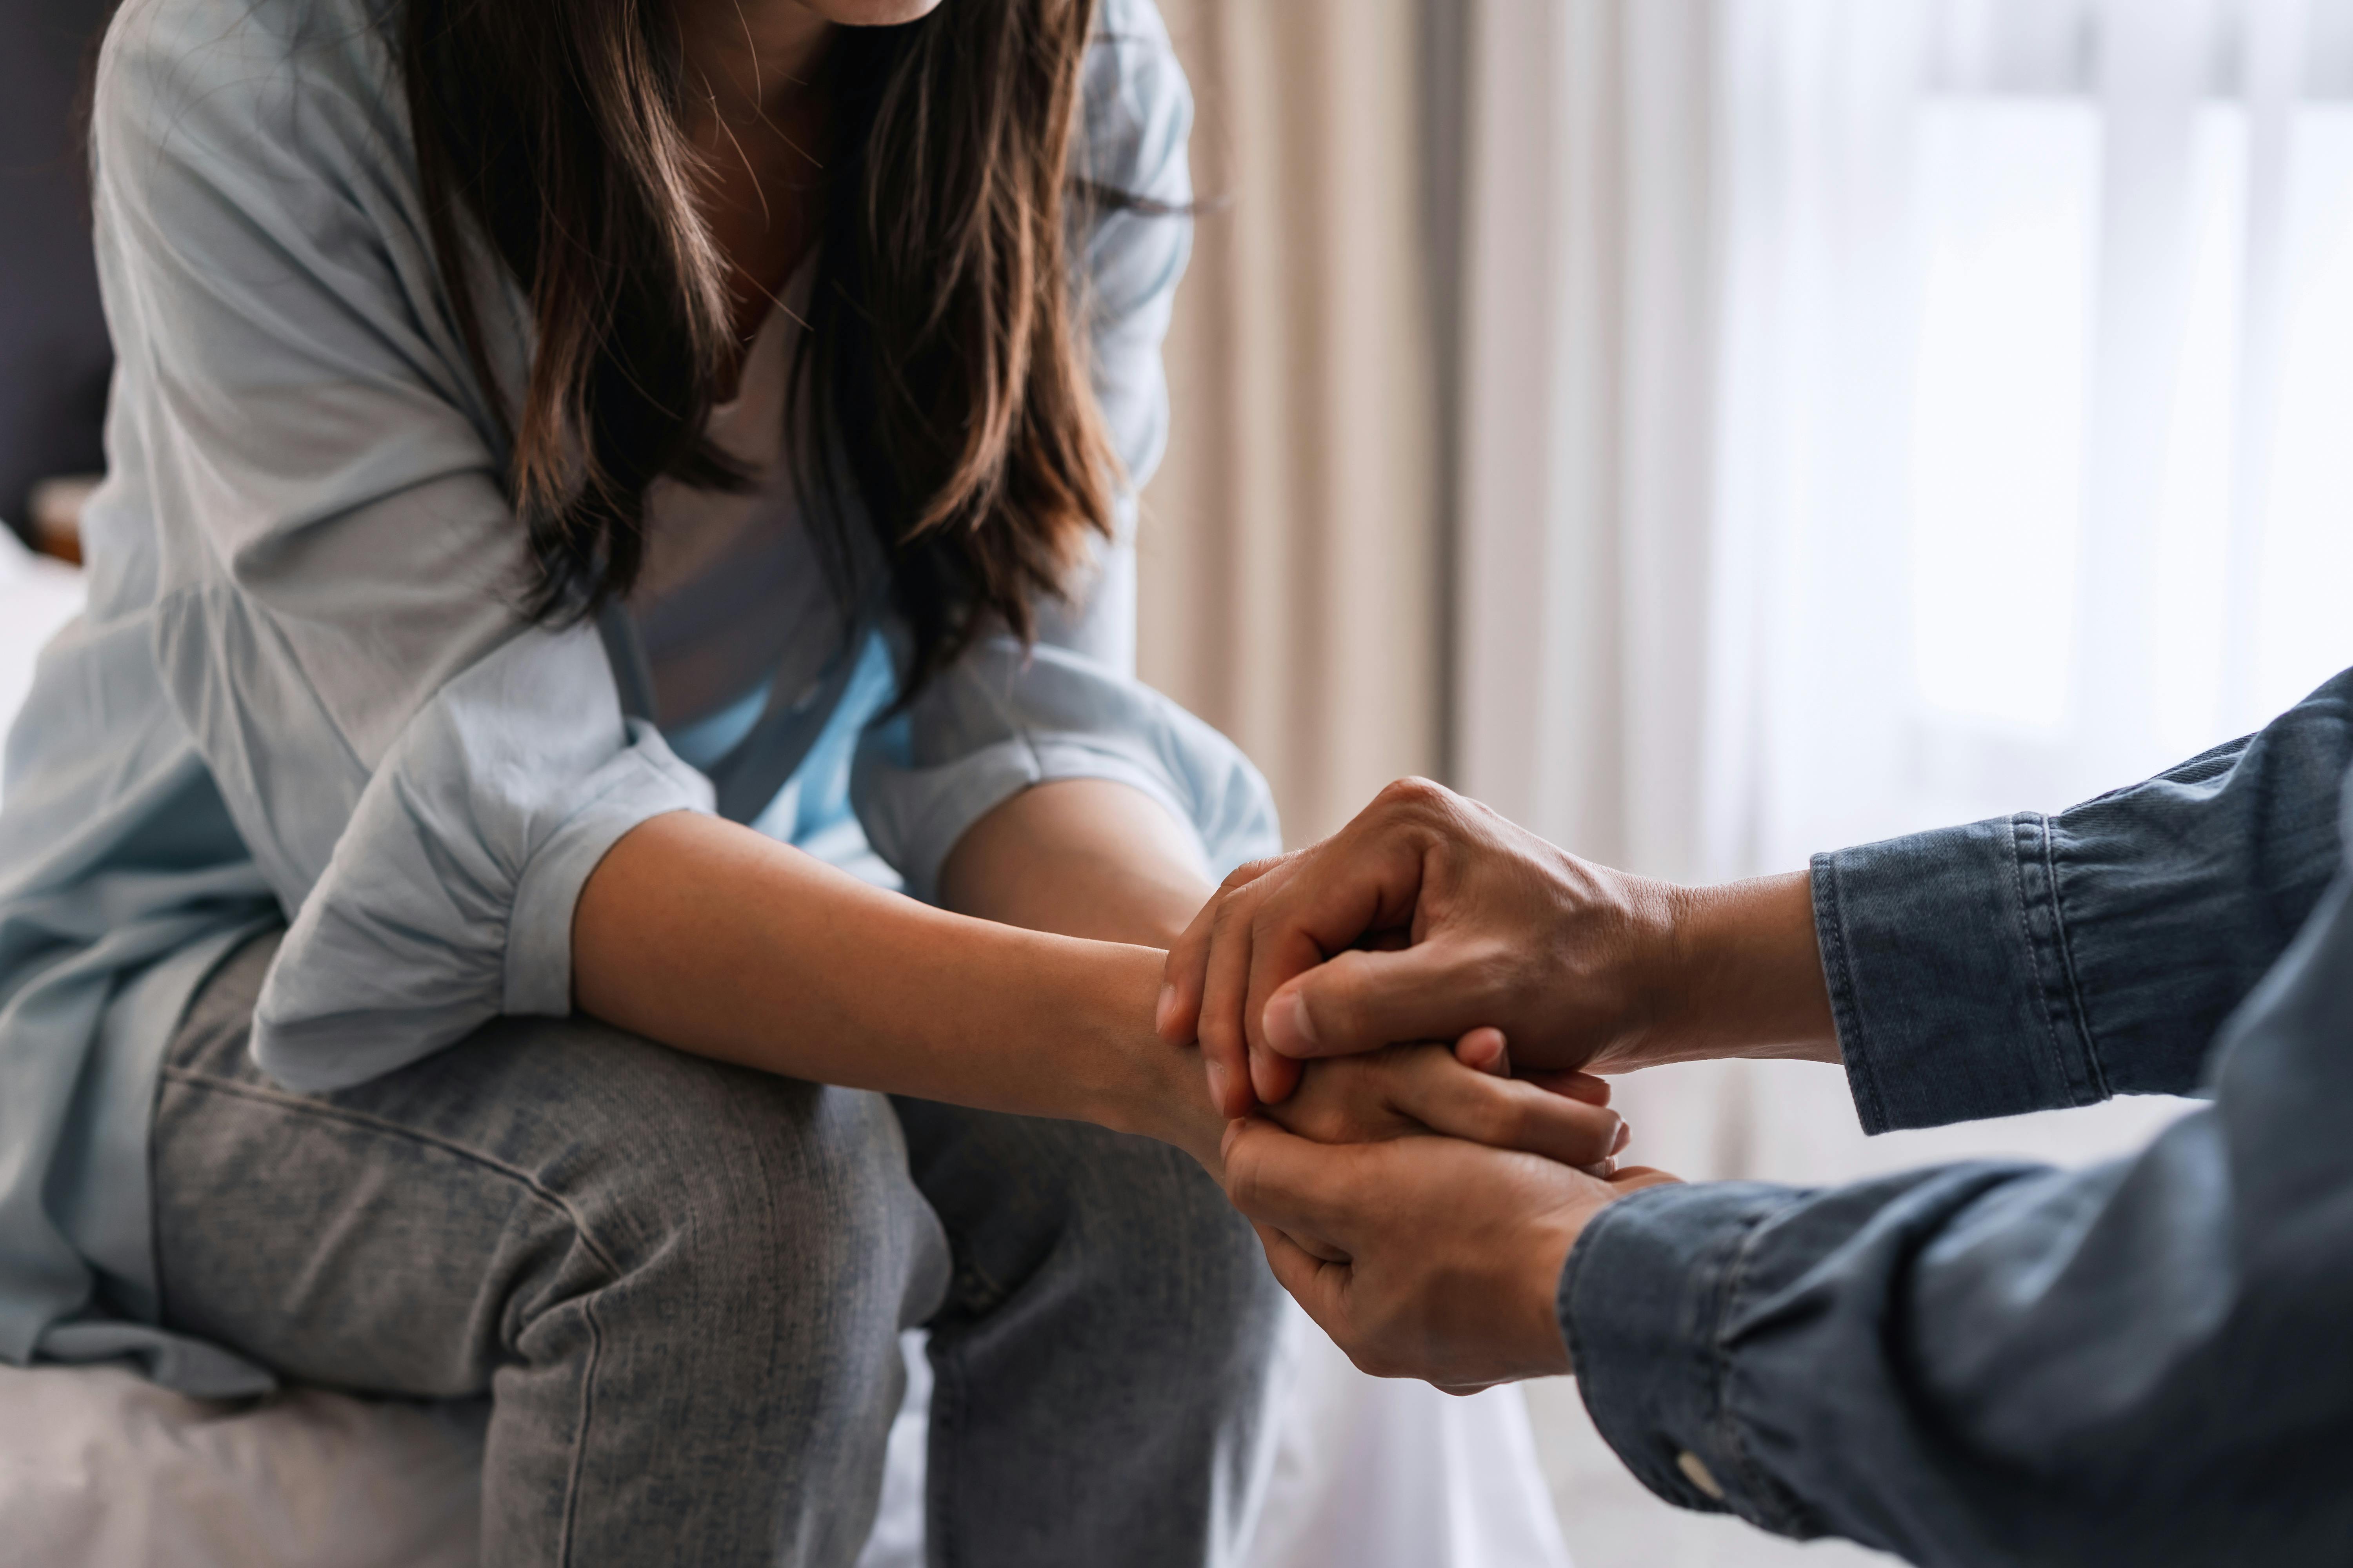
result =
[[[289,917],[254,1053],[294,1088],[569,1011],[598,858],[711,804],[624,719],[595,632],[520,609],[525,534],[376,49],[306,38],[299,7],[148,5],[94,106],[155,658]]]

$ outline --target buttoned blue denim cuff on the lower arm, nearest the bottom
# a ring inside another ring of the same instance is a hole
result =
[[[1802,1505],[1751,1462],[1722,1326],[1758,1227],[1805,1194],[1762,1182],[1647,1187],[1602,1208],[1560,1269],[1560,1331],[1593,1427],[1668,1502],[1781,1535]]]

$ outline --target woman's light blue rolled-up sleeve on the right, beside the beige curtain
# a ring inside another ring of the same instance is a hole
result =
[[[1193,830],[1214,875],[1280,846],[1273,797],[1249,759],[1134,679],[1134,487],[1167,442],[1160,346],[1193,197],[1193,99],[1151,5],[1104,7],[1085,113],[1085,176],[1141,197],[1094,214],[1078,287],[1096,402],[1125,468],[1118,529],[1071,602],[1042,607],[1038,646],[984,637],[904,715],[866,733],[852,802],[875,851],[920,898],[936,893],[939,867],[972,823],[1059,778],[1111,778],[1153,797]]]

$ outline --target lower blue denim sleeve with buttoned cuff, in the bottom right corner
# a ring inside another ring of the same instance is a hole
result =
[[[1671,1502],[1932,1568],[2339,1563],[2348,1039],[2339,875],[2134,1159],[1614,1204],[1560,1279],[1586,1406]]]

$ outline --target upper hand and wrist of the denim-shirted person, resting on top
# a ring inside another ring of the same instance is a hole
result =
[[[1428,780],[1245,865],[1169,950],[1155,1027],[1233,1117],[1301,1058],[1492,1025],[1522,1067],[1835,1060],[1807,877],[1682,889],[1546,844]]]

